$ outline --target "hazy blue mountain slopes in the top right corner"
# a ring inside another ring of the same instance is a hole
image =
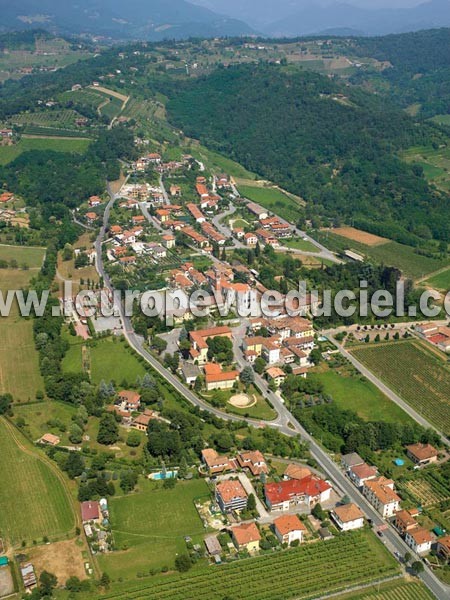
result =
[[[359,8],[352,0],[192,0],[267,36],[385,35],[450,26],[450,0],[410,8]],[[369,4],[370,6],[370,4]]]

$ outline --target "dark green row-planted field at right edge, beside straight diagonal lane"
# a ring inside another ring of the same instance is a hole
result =
[[[360,346],[352,354],[438,430],[450,433],[450,370],[444,360],[418,341]]]

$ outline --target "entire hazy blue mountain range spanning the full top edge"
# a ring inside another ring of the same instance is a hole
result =
[[[0,32],[45,28],[121,40],[385,35],[450,26],[450,0],[361,8],[352,0],[0,0]],[[357,0],[354,0],[357,1]]]

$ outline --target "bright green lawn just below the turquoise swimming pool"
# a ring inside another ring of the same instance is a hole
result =
[[[166,490],[159,482],[141,479],[139,491],[112,498],[111,524],[119,549],[98,557],[100,569],[114,579],[134,579],[152,568],[173,568],[178,553],[186,551],[184,536],[200,541],[205,532],[194,505],[207,496],[204,480],[179,481]]]

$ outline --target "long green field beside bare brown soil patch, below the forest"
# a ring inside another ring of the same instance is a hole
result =
[[[406,246],[398,242],[367,246],[336,235],[334,231],[315,231],[312,235],[330,250],[335,252],[353,250],[377,263],[382,263],[389,267],[397,267],[404,275],[414,280],[424,279],[430,273],[450,267],[450,260],[447,258],[422,256],[417,254],[412,246]]]

